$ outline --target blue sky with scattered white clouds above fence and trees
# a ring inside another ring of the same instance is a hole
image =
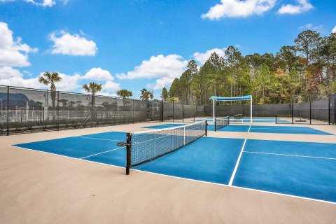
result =
[[[0,0],[0,85],[45,89],[38,76],[59,71],[58,90],[94,80],[159,98],[190,59],[229,45],[275,54],[304,29],[336,32],[336,1]]]

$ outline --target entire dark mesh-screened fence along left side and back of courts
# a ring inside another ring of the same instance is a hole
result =
[[[293,123],[335,124],[335,105],[336,94],[293,96],[292,104],[253,105],[253,117],[283,116],[293,118]],[[216,106],[218,117],[238,113],[249,116],[250,105]],[[0,135],[164,120],[193,122],[195,116],[212,116],[212,106],[0,85]]]

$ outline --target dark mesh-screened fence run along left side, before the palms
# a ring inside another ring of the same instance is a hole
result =
[[[183,120],[183,104],[0,85],[0,135]],[[196,115],[187,106],[186,118]]]

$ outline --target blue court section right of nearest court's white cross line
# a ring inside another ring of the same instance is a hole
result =
[[[336,202],[336,144],[248,140],[234,186]]]

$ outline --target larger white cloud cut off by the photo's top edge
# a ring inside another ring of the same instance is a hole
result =
[[[221,0],[221,3],[210,8],[208,13],[202,14],[203,19],[219,20],[221,18],[247,17],[262,15],[271,10],[276,0]]]

